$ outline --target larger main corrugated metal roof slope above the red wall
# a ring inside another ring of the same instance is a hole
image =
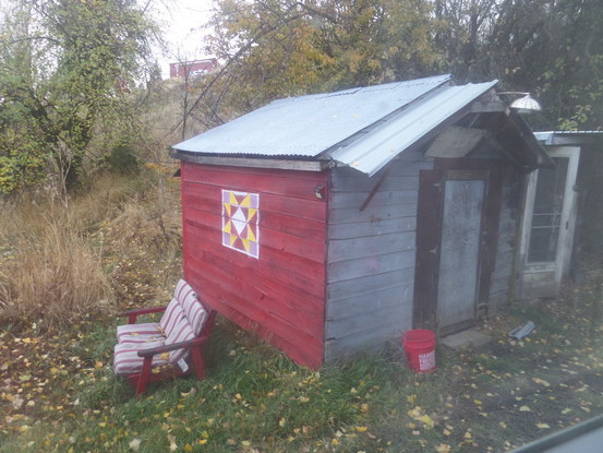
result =
[[[449,80],[449,75],[439,75],[279,99],[173,148],[208,154],[315,157]]]

